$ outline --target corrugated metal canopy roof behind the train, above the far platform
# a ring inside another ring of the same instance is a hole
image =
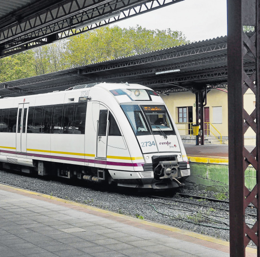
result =
[[[92,82],[140,83],[155,90],[161,88],[196,88],[227,80],[227,37],[185,44],[142,55],[133,55],[46,75],[0,84],[0,95],[17,96],[64,90],[77,84]],[[251,59],[244,61],[248,66]],[[179,68],[178,72],[155,74]],[[20,91],[20,92],[19,92]]]

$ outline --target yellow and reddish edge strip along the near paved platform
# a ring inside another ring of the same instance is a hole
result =
[[[58,202],[72,204],[72,205],[79,206],[79,207],[89,209],[89,210],[92,210],[92,211],[97,211],[99,213],[105,213],[105,214],[108,214],[108,215],[111,215],[111,216],[120,217],[120,218],[127,219],[127,220],[130,220],[130,221],[135,221],[135,222],[138,222],[138,223],[141,223],[141,224],[145,224],[145,225],[153,226],[153,227],[156,227],[156,228],[161,228],[161,229],[169,230],[169,231],[172,231],[172,232],[176,232],[176,233],[179,233],[179,234],[184,234],[184,235],[191,236],[191,237],[194,237],[194,238],[198,238],[198,239],[201,239],[201,240],[205,240],[205,241],[208,241],[208,242],[217,243],[217,244],[224,245],[224,246],[229,246],[229,242],[227,242],[227,241],[216,239],[216,238],[213,238],[211,236],[198,234],[196,232],[191,232],[191,231],[171,227],[171,226],[164,225],[164,224],[158,224],[158,223],[154,223],[154,222],[147,221],[147,220],[137,219],[137,218],[130,217],[130,216],[127,216],[127,215],[114,213],[112,211],[106,211],[106,210],[102,210],[102,209],[92,207],[92,206],[88,206],[88,205],[85,205],[85,204],[80,204],[80,203],[64,200],[64,199],[57,198],[57,197],[54,197],[54,196],[51,196],[51,195],[45,195],[45,194],[41,194],[41,193],[37,193],[37,192],[33,192],[33,191],[28,191],[26,189],[21,189],[21,188],[17,188],[17,187],[8,186],[8,185],[2,185],[2,184],[0,184],[0,187],[7,187],[7,188],[10,188],[10,189],[13,189],[13,190],[16,190],[16,191],[20,191],[20,192],[24,192],[24,193],[28,193],[28,194],[32,194],[32,195],[37,195],[39,197],[44,197],[44,198],[51,199],[51,200],[58,201]],[[246,252],[257,254],[257,249],[251,248],[251,247],[246,247]]]

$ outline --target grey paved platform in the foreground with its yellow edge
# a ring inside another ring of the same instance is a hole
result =
[[[229,256],[226,241],[2,184],[0,217],[1,257]]]

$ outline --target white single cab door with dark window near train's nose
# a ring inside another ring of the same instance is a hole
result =
[[[99,120],[97,121],[97,143],[96,157],[107,158],[107,130],[108,130],[108,109],[99,105]]]

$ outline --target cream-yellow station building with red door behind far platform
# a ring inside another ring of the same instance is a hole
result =
[[[164,99],[184,142],[195,142],[192,125],[196,124],[196,96],[192,92],[160,94]],[[248,89],[244,94],[244,109],[250,115],[255,109],[255,94]],[[204,106],[205,144],[228,144],[228,89],[216,88],[207,93]],[[235,133],[235,131],[234,131]],[[249,128],[245,145],[255,146],[255,132]]]

